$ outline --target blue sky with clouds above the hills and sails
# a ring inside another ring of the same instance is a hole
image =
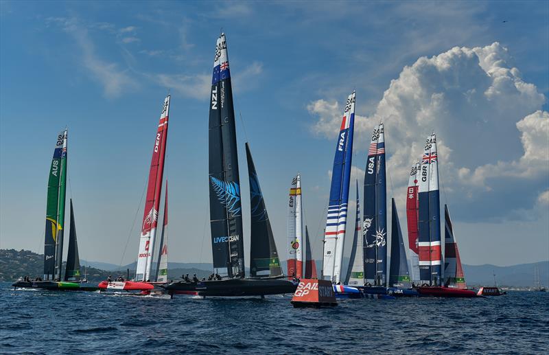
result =
[[[220,31],[246,250],[249,141],[279,254],[300,172],[320,259],[336,137],[355,89],[352,179],[362,185],[371,131],[384,122],[388,196],[405,235],[408,173],[434,131],[462,262],[549,260],[547,1],[0,1],[0,248],[43,253],[49,164],[67,126],[80,257],[135,261],[170,93],[170,260],[211,262],[207,122]],[[354,189],[350,200],[352,211]]]

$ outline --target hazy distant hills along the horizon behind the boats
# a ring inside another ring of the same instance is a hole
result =
[[[36,277],[43,273],[44,255],[34,253],[32,251],[16,251],[14,249],[0,249],[0,281],[12,281],[20,276],[30,275]],[[106,262],[89,262],[81,260],[82,274],[84,273],[84,265],[86,273],[90,281],[102,281],[113,275],[126,276],[126,270],[130,269],[130,276],[135,273],[136,263],[116,266]],[[282,263],[283,271],[287,270],[286,262]],[[347,270],[349,258],[344,257],[343,270]],[[318,273],[320,273],[320,260],[316,261]],[[100,267],[102,266],[102,267]],[[153,267],[155,267],[154,264]],[[494,266],[485,265],[463,265],[465,272],[465,280],[469,286],[473,285],[492,285],[493,273],[495,280],[499,286],[517,286],[528,287],[534,286],[534,272],[539,270],[539,279],[542,285],[549,286],[549,261],[535,262],[532,264],[519,264],[513,266]],[[196,273],[198,278],[208,277],[213,270],[211,263],[196,263],[196,262],[169,262],[168,263],[168,279],[179,279],[181,275],[189,274],[191,277]],[[246,268],[249,273],[248,268]],[[154,275],[154,270],[153,270]]]

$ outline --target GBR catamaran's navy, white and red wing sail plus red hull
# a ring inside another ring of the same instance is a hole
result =
[[[425,140],[418,176],[419,278],[422,286],[417,290],[421,295],[436,297],[476,297],[476,293],[471,290],[441,287],[443,279],[439,157],[434,133]]]

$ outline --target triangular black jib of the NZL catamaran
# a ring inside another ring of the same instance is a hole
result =
[[[274,244],[267,207],[248,143],[246,143],[246,159],[250,178],[250,274],[252,277],[281,276],[279,253],[277,245]],[[261,271],[269,271],[269,273],[259,275]]]

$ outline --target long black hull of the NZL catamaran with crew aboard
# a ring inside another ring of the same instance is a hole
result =
[[[244,297],[292,294],[296,287],[296,284],[285,279],[223,279],[202,281],[197,284],[175,282],[164,288],[172,294],[187,293],[205,297]]]

